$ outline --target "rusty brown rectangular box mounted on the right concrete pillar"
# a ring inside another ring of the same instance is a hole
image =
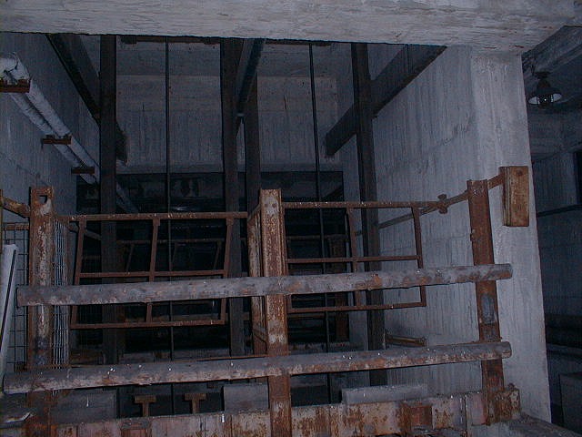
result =
[[[512,166],[499,168],[503,178],[503,224],[512,227],[529,226],[529,168]]]

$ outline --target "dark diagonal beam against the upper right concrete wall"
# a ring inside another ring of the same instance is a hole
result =
[[[406,85],[412,82],[444,46],[404,46],[372,81],[372,110],[376,116]],[[347,109],[336,125],[326,134],[326,154],[334,155],[349,138],[356,135],[356,112]]]

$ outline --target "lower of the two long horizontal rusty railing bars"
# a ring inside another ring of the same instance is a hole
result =
[[[5,376],[7,394],[170,382],[245,380],[341,371],[370,371],[452,362],[500,360],[511,356],[507,341],[428,348],[309,353],[213,361],[109,364],[63,370],[25,371]]]

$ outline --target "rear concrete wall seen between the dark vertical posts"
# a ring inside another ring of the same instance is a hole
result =
[[[221,171],[221,109],[218,76],[172,76],[170,147],[172,171]],[[163,171],[166,165],[163,76],[120,76],[118,118],[128,144],[121,171]],[[323,137],[336,117],[336,81],[316,78],[322,168]],[[261,77],[258,81],[261,160],[264,170],[315,168],[311,91],[307,77]],[[242,129],[241,129],[242,131]],[[239,164],[243,169],[243,147]]]

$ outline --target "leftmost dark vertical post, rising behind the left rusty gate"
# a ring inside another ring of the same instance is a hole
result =
[[[116,157],[115,157],[115,117],[116,117],[116,36],[101,36],[100,49],[100,124],[99,124],[99,161],[100,212],[115,213],[116,206]],[[118,268],[116,250],[115,222],[101,223],[101,270],[115,271]],[[104,279],[104,282],[107,279]],[[115,307],[103,308],[103,321],[115,321]],[[115,363],[118,360],[121,332],[103,331],[105,360]]]

